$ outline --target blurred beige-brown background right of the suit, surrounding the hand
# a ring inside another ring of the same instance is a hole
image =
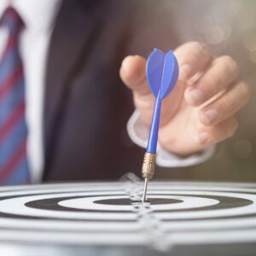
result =
[[[153,9],[149,12],[152,15]],[[231,55],[241,68],[241,79],[250,84],[253,90],[251,102],[237,114],[240,126],[235,137],[220,143],[212,160],[189,168],[160,169],[156,176],[185,180],[255,182],[256,1],[158,1],[154,15],[151,26],[161,30],[162,24],[169,22],[170,29],[175,29],[173,47],[195,40],[205,42],[216,55]],[[145,28],[143,32],[146,30]]]

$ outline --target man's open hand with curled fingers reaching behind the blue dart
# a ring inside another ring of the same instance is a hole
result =
[[[238,80],[239,69],[230,56],[214,57],[205,44],[189,42],[174,54],[180,67],[178,82],[162,102],[159,143],[181,156],[193,154],[232,137],[237,129],[234,114],[251,95]],[[143,57],[127,56],[120,77],[133,91],[135,107],[150,125],[154,108],[145,77]]]

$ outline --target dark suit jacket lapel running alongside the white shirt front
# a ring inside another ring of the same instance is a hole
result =
[[[71,84],[100,30],[98,5],[92,1],[63,0],[55,22],[49,44],[44,94],[46,172],[55,154]]]

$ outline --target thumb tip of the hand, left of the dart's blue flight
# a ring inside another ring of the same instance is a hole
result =
[[[127,56],[120,67],[120,78],[133,92],[139,95],[147,95],[148,88],[146,74],[146,61],[139,55]]]

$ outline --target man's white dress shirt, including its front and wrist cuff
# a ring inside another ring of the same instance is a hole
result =
[[[72,1],[72,0],[70,0]],[[43,143],[43,110],[45,65],[49,49],[49,39],[55,25],[55,17],[60,8],[61,0],[14,0],[12,6],[25,23],[25,29],[20,34],[20,55],[23,62],[26,81],[26,123],[28,126],[27,156],[32,182],[41,180],[44,168]],[[0,17],[9,6],[9,1],[0,2]],[[0,27],[0,55],[8,38],[8,32]],[[148,130],[138,119],[135,111],[128,121],[127,130],[131,140],[145,148]],[[192,155],[186,159],[157,148],[157,164],[160,166],[190,166],[207,160],[212,156],[209,148],[203,154]]]

